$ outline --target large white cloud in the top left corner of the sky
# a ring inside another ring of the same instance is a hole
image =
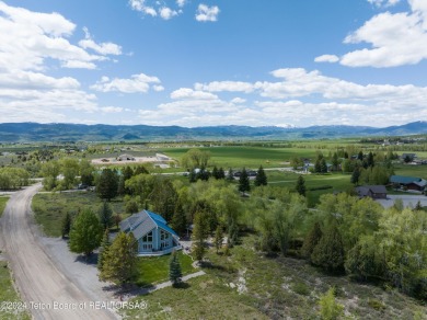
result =
[[[46,59],[65,68],[94,69],[107,58],[72,45],[68,37],[74,28],[58,13],[32,12],[0,1],[0,69],[43,70]]]

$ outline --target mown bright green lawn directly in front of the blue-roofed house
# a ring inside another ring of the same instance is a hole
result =
[[[183,275],[194,273],[193,260],[182,251],[177,252]],[[138,258],[137,285],[145,287],[169,281],[169,262],[171,254],[162,256]]]

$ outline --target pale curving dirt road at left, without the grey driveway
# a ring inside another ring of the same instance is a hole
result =
[[[14,193],[0,220],[0,249],[11,263],[26,308],[34,319],[118,319],[109,310],[115,305],[93,300],[61,273],[41,244],[31,216],[31,201],[39,187]]]

